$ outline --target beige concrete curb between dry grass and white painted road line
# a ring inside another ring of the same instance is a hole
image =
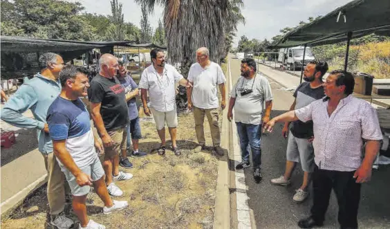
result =
[[[226,101],[228,101],[228,93],[226,93],[226,97]],[[222,113],[221,147],[223,149],[229,149],[229,121],[227,117],[228,107]],[[226,150],[225,155],[219,158],[218,162],[214,206],[213,228],[230,228],[229,153]]]

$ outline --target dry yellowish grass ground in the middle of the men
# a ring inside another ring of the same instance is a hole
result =
[[[196,135],[192,113],[180,115],[178,123],[178,147],[183,154],[175,156],[167,150],[165,156],[159,156],[153,150],[159,145],[156,127],[150,119],[142,118],[140,149],[151,154],[131,158],[134,167],[128,172],[134,178],[117,183],[124,196],[115,199],[129,201],[129,208],[106,216],[102,201],[90,193],[87,208],[91,219],[106,228],[212,228],[218,158],[212,152],[193,152]],[[210,145],[207,121],[205,136]],[[1,228],[45,228],[48,205],[44,188],[3,219]]]

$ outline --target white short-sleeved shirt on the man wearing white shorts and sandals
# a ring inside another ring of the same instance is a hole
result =
[[[160,112],[168,112],[175,109],[175,84],[181,79],[183,75],[180,75],[174,66],[165,64],[163,75],[160,75],[152,64],[142,72],[138,87],[148,90],[150,107]]]

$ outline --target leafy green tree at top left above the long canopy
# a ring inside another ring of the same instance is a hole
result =
[[[80,15],[80,3],[51,0],[1,1],[1,35],[46,39],[97,39],[95,28]]]

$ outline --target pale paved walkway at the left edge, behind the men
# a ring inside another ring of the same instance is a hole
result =
[[[32,117],[30,111],[26,111],[24,115]],[[3,214],[44,183],[46,170],[44,158],[37,149],[35,130],[13,127],[3,121],[1,121],[1,129],[15,131],[17,135],[16,143],[12,147],[1,148],[1,214]]]

